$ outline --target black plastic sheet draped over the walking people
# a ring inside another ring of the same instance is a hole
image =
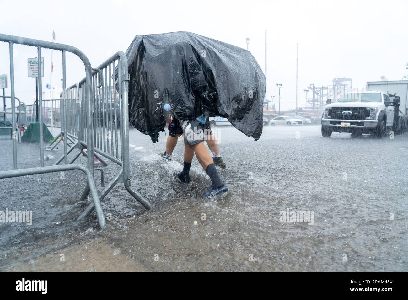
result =
[[[249,51],[181,31],[137,35],[126,56],[129,121],[153,142],[169,112],[180,120],[221,116],[261,136],[266,79]]]

